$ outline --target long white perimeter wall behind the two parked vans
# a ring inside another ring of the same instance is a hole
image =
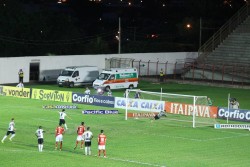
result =
[[[63,69],[66,66],[94,65],[99,70],[105,68],[105,59],[112,57],[132,58],[136,61],[153,61],[175,63],[177,60],[196,58],[196,52],[174,53],[137,53],[137,54],[102,54],[102,55],[67,55],[0,58],[0,84],[18,83],[18,71],[24,71],[24,83],[29,82],[30,63],[40,63],[40,73],[44,70]],[[43,76],[40,74],[39,80]]]

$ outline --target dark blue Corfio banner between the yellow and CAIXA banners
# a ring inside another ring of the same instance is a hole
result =
[[[112,96],[73,93],[72,102],[81,104],[91,104],[95,106],[114,107],[115,98]]]

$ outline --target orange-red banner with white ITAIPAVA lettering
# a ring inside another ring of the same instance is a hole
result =
[[[167,113],[180,115],[193,115],[195,111],[196,116],[206,118],[216,118],[218,111],[218,107],[215,106],[196,105],[194,107],[192,104],[175,102],[166,102],[165,109]]]

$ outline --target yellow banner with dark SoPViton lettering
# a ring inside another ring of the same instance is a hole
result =
[[[60,101],[72,103],[72,92],[58,91],[58,90],[45,90],[45,89],[32,89],[32,99]]]

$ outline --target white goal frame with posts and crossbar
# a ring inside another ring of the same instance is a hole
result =
[[[126,106],[125,106],[125,120],[127,120],[128,119],[128,101],[129,101],[129,97],[128,97],[128,95],[129,95],[129,92],[130,91],[133,91],[133,92],[136,92],[136,91],[138,91],[138,92],[146,92],[147,94],[159,94],[160,96],[160,101],[162,100],[162,95],[164,94],[164,95],[169,95],[169,96],[179,96],[179,97],[187,97],[187,98],[192,98],[193,99],[193,108],[195,108],[195,106],[196,106],[196,100],[198,99],[198,98],[206,98],[207,99],[207,96],[194,96],[194,95],[184,95],[184,94],[172,94],[172,93],[163,93],[162,92],[162,89],[161,89],[161,92],[151,92],[151,91],[143,91],[143,90],[141,90],[141,89],[126,89],[126,91],[125,91],[125,98],[126,98]],[[196,112],[195,112],[195,110],[193,111],[193,115],[192,115],[192,127],[193,128],[195,128],[196,126],[195,126],[195,118],[196,118]]]

